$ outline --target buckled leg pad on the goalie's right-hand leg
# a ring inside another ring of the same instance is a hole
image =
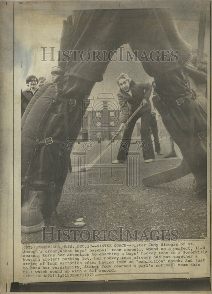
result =
[[[158,82],[161,89],[161,91],[159,90],[160,97],[155,95],[152,101],[161,114],[164,126],[179,146],[183,158],[192,173],[195,175],[201,171],[201,176],[197,180],[202,180],[202,175],[205,174],[207,165],[206,98],[201,94],[197,95],[190,88],[182,73],[173,71],[172,75],[170,74],[171,78],[166,76],[162,78],[162,81]],[[164,84],[165,80],[167,83],[166,87]],[[167,92],[167,87],[169,86],[170,93]],[[181,89],[183,94],[177,93],[179,89]]]

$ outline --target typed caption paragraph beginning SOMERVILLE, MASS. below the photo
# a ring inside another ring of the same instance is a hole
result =
[[[23,282],[209,276],[207,240],[23,245]]]

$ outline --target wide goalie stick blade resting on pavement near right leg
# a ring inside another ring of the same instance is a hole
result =
[[[189,173],[191,173],[191,170],[183,158],[177,167],[143,178],[142,183],[144,186],[160,185],[187,176]]]

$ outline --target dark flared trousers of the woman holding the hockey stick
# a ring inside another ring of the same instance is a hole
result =
[[[150,125],[149,125],[150,116],[151,116],[151,109],[143,113],[138,112],[137,115],[129,122],[128,127],[125,128],[123,131],[123,137],[121,140],[117,159],[126,160],[126,157],[130,148],[131,136],[138,118],[141,118],[141,142],[142,142],[143,158],[144,160],[155,158],[153,145],[152,145],[152,139],[150,135]]]

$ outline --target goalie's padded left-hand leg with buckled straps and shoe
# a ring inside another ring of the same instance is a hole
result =
[[[41,230],[44,217],[51,216],[53,211],[58,218],[56,207],[70,156],[70,149],[65,148],[64,141],[70,139],[73,144],[81,128],[82,100],[85,97],[82,84],[85,92],[91,91],[93,83],[80,78],[66,81],[65,89],[60,82],[50,84],[36,99],[23,125],[21,230],[24,233]]]

